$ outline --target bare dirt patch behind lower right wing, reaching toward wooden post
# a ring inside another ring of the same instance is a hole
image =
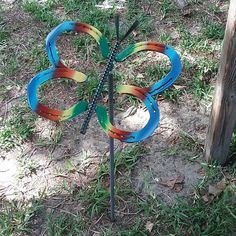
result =
[[[174,104],[162,101],[159,103],[161,121],[155,134],[145,140],[143,145],[148,153],[138,163],[133,173],[133,184],[138,192],[155,194],[166,204],[172,204],[178,197],[187,197],[194,191],[195,186],[202,179],[198,173],[201,168],[201,159],[191,161],[196,156],[194,151],[186,147],[177,149],[173,154],[166,155],[166,149],[175,149],[181,145],[179,134],[186,132],[194,137],[197,146],[202,146],[205,140],[208,118],[198,109],[185,106],[177,107]],[[137,112],[120,120],[127,128],[140,129],[140,113],[143,121],[148,119],[148,112],[137,109]],[[135,122],[138,121],[138,122]],[[182,144],[185,145],[185,144]],[[183,151],[186,149],[186,151]],[[158,183],[162,177],[184,176],[183,188],[180,191],[165,187]]]

